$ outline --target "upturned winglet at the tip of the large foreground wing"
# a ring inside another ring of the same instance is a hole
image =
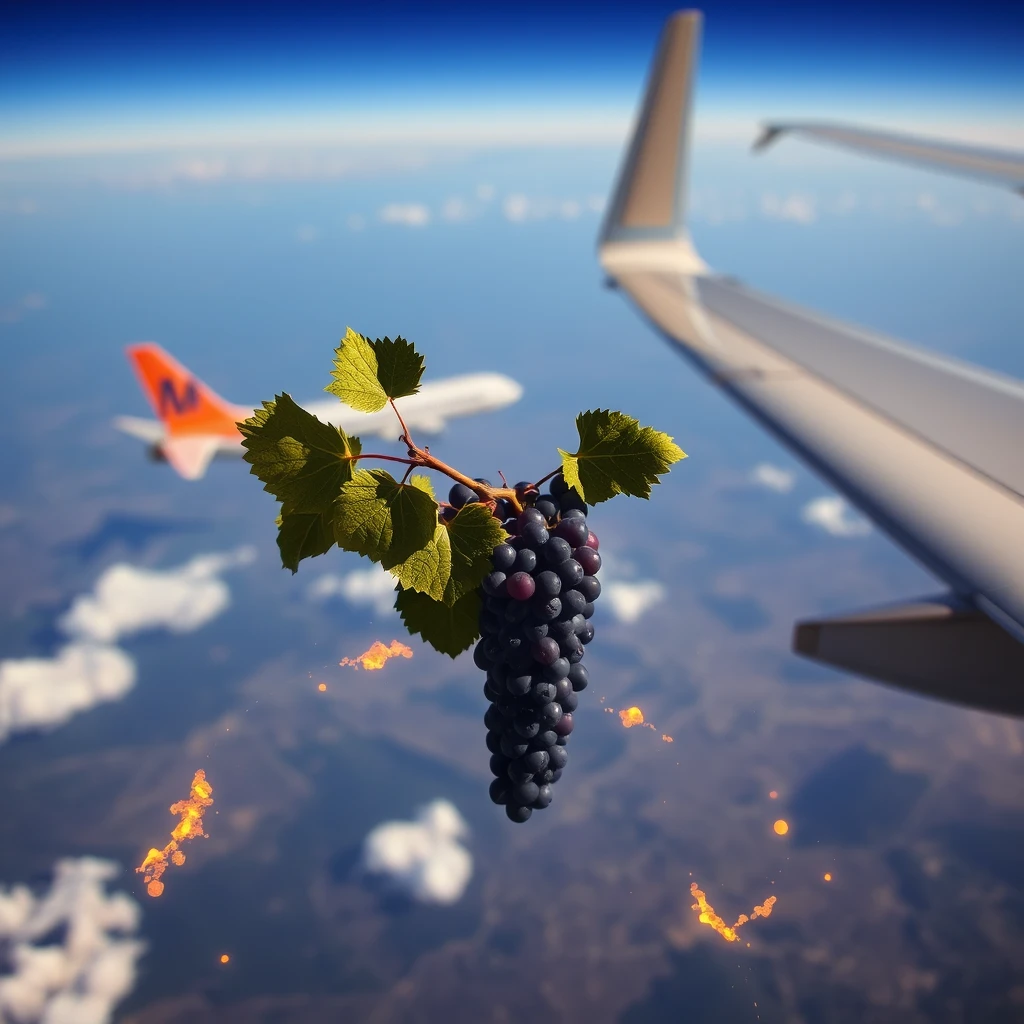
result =
[[[609,272],[631,265],[707,269],[686,231],[686,175],[693,83],[702,15],[678,11],[666,23],[633,139],[601,228]]]

